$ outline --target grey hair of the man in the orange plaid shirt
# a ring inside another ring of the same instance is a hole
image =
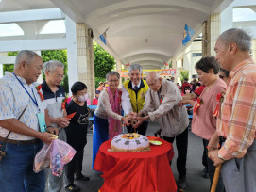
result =
[[[238,28],[231,28],[224,31],[218,37],[218,40],[221,40],[226,46],[234,42],[241,51],[250,51],[251,48],[251,37],[245,31]]]

